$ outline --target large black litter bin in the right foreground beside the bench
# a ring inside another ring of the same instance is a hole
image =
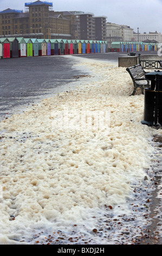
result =
[[[162,125],[162,72],[155,71],[145,75],[151,81],[151,87],[145,88],[144,120],[148,126]]]

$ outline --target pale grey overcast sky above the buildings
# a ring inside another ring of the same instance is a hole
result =
[[[45,0],[55,11],[85,11],[94,16],[107,16],[107,22],[127,25],[137,32],[162,34],[162,0]],[[0,10],[24,11],[24,3],[34,0],[0,0]]]

